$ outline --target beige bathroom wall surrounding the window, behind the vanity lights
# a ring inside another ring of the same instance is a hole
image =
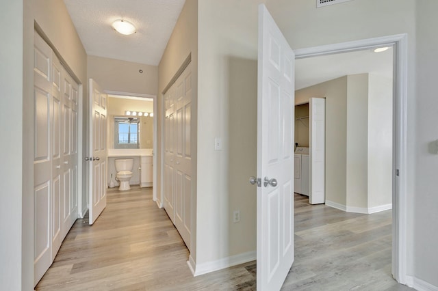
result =
[[[108,98],[107,148],[114,148],[114,117],[125,116],[125,111],[153,112],[153,101]],[[153,117],[140,117],[140,148],[153,148]]]

